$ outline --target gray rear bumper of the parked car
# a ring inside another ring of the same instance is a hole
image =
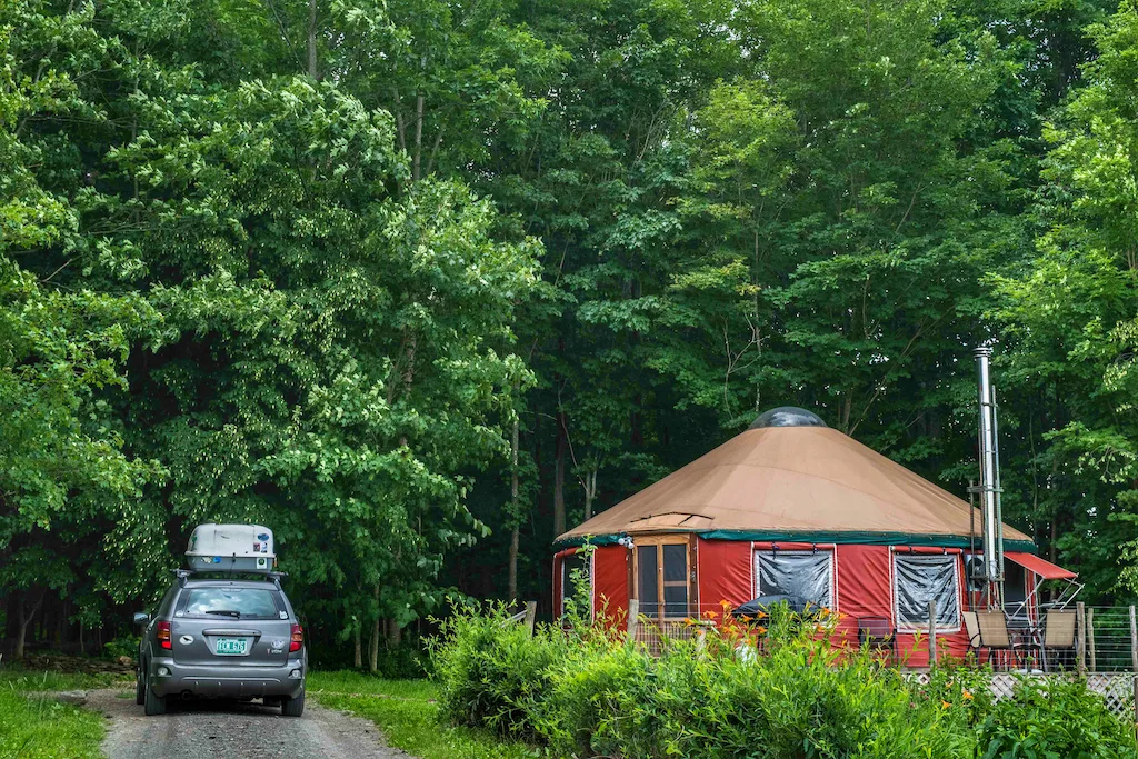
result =
[[[159,675],[165,668],[170,674]],[[300,659],[283,667],[191,666],[178,665],[173,659],[150,661],[147,682],[155,695],[190,694],[211,698],[296,698],[304,690],[305,666]],[[299,670],[299,677],[289,677]]]

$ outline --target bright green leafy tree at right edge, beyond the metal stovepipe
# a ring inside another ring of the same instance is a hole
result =
[[[1110,593],[1119,546],[1133,594],[1138,470],[1132,346],[1135,112],[1138,10],[1123,3],[1090,28],[1098,58],[1088,85],[1048,126],[1036,256],[995,279],[997,314],[1013,353],[1015,409],[1029,416],[1032,515],[1053,553]],[[1128,79],[1129,77],[1129,79]],[[1021,429],[1024,424],[1021,422]]]

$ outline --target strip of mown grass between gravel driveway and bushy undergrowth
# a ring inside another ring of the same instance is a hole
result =
[[[387,680],[360,673],[310,673],[308,695],[332,709],[366,717],[390,745],[422,759],[520,759],[537,750],[503,743],[481,731],[442,725],[428,680]]]

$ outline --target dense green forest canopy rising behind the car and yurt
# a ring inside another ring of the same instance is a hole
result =
[[[1136,61],[1108,0],[3,3],[8,637],[255,521],[374,662],[782,404],[963,495],[981,343],[1008,521],[1132,599]]]

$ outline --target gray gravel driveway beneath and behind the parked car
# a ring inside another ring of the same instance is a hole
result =
[[[109,759],[411,759],[384,745],[382,735],[366,719],[313,701],[300,718],[281,717],[279,708],[224,701],[172,702],[170,713],[146,717],[134,704],[133,690],[106,690],[90,691],[86,708],[110,718],[102,742]]]

